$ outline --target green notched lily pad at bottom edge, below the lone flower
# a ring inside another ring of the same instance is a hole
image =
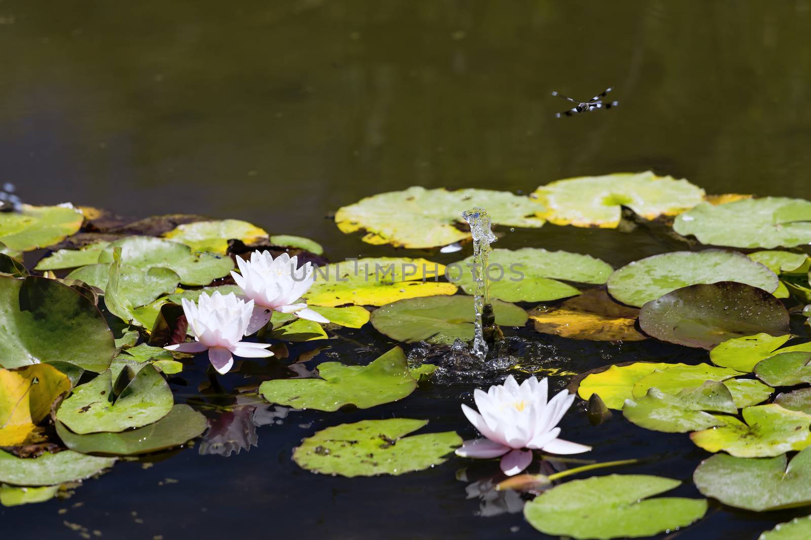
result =
[[[535,529],[569,538],[640,538],[686,527],[701,519],[703,499],[660,497],[678,480],[644,474],[610,474],[553,487],[524,506]]]

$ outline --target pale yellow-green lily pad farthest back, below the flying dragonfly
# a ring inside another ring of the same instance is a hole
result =
[[[693,208],[704,200],[704,190],[684,179],[650,171],[616,172],[550,182],[536,189],[532,197],[546,207],[540,216],[550,223],[616,228],[623,206],[642,218],[656,219]]]

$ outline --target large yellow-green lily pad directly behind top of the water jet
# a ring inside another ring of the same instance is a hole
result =
[[[379,193],[338,209],[335,223],[341,232],[365,231],[368,244],[400,248],[433,248],[470,238],[457,227],[461,213],[474,206],[487,208],[493,225],[541,227],[536,216],[543,206],[530,198],[491,189],[425,189]]]

